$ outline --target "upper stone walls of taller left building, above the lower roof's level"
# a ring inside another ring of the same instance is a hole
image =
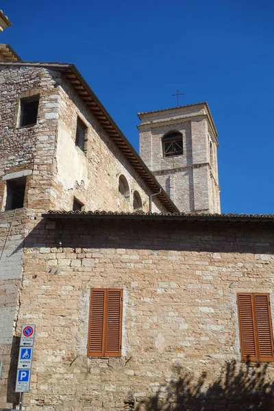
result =
[[[76,197],[86,210],[133,211],[137,190],[149,211],[151,190],[62,73],[42,66],[0,70],[0,210],[5,210],[5,177],[27,172],[24,206],[29,209],[71,210]],[[40,96],[37,123],[19,127],[20,99],[33,95]],[[88,126],[85,153],[75,146],[77,116]],[[129,183],[128,198],[119,193],[121,174]],[[153,211],[165,211],[155,197]]]

